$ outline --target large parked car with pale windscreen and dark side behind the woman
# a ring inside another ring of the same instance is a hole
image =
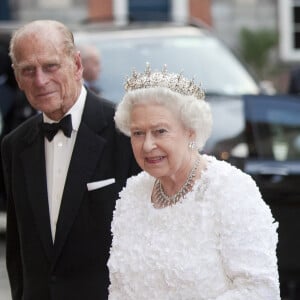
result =
[[[81,31],[102,56],[102,95],[118,102],[125,76],[167,64],[201,80],[214,125],[205,153],[250,174],[279,222],[282,299],[300,299],[300,98],[260,93],[253,77],[210,32],[191,26]],[[238,183],[237,183],[238,185]]]

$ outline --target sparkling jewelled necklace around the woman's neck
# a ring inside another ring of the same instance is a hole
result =
[[[159,179],[156,179],[153,186],[151,195],[151,202],[155,208],[164,208],[166,206],[172,206],[180,201],[193,187],[195,183],[196,171],[200,163],[200,157],[195,161],[193,168],[191,169],[185,183],[180,190],[173,196],[168,196],[162,187]]]

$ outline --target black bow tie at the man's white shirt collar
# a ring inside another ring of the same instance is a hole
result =
[[[62,118],[58,123],[45,123],[41,124],[42,132],[44,136],[51,142],[58,132],[58,130],[62,130],[64,135],[67,137],[71,136],[72,133],[72,117],[71,115],[66,115]]]

